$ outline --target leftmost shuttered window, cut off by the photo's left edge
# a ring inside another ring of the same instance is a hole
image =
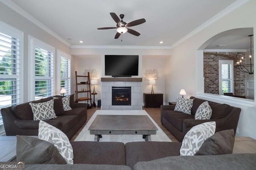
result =
[[[0,109],[22,103],[22,36],[22,32],[0,22]]]

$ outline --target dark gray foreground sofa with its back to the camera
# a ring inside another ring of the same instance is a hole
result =
[[[250,170],[256,167],[256,154],[179,156],[181,142],[70,143],[74,150],[73,165],[26,164],[26,170]]]

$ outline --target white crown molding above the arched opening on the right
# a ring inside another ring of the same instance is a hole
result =
[[[186,41],[188,38],[194,36],[198,32],[202,31],[204,28],[208,27],[210,24],[216,22],[220,18],[222,18],[222,17],[226,16],[227,14],[229,14],[230,12],[236,10],[238,7],[242,6],[243,4],[245,4],[248,1],[249,0],[237,0],[236,2],[234,2],[233,4],[231,4],[230,6],[228,6],[227,8],[225,8],[224,10],[222,10],[221,12],[219,12],[218,14],[216,14],[215,16],[210,18],[208,21],[204,22],[204,24],[202,24],[201,26],[199,26],[198,28],[196,28],[195,30],[193,30],[192,32],[190,32],[189,34],[187,34],[186,36],[184,36],[183,38],[178,40],[176,43],[174,43],[172,45],[172,48],[176,47],[180,43]]]

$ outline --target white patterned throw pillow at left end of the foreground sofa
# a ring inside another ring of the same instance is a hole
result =
[[[64,134],[60,129],[49,125],[44,121],[40,121],[38,128],[38,138],[54,144],[54,146],[58,149],[59,153],[66,160],[66,162],[68,164],[74,164],[73,148],[66,134]]]

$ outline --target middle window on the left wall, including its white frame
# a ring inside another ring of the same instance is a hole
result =
[[[30,36],[31,54],[34,64],[31,64],[31,77],[34,82],[32,99],[38,100],[54,95],[54,47]]]

